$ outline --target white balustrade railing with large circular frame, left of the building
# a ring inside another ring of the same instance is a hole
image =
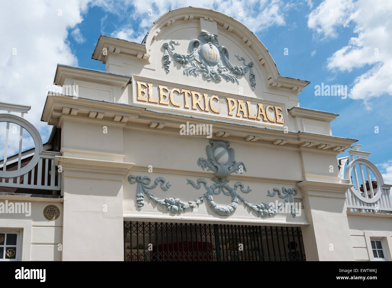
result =
[[[6,123],[4,159],[0,162],[0,186],[60,190],[60,175],[56,171],[54,157],[61,156],[61,153],[42,151],[40,133],[33,124],[23,118],[24,113],[30,110],[30,106],[0,102],[0,110],[7,111],[7,114],[0,114],[0,122]],[[13,115],[11,112],[20,112],[21,116]],[[8,159],[10,123],[20,126],[20,135],[19,153]],[[22,152],[23,130],[26,130],[34,140],[33,152],[28,155],[23,155]],[[31,159],[28,160],[30,157]]]

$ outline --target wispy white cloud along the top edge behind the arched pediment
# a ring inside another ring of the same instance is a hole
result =
[[[102,7],[105,11],[117,14],[121,18],[126,16],[124,21],[128,19],[129,23],[117,29],[116,33],[129,37],[129,27],[134,23],[139,23],[144,37],[147,29],[159,16],[180,7],[196,6],[214,9],[244,23],[251,31],[258,32],[273,25],[286,25],[285,12],[292,6],[292,3],[282,0],[199,0],[195,5],[194,0],[134,0],[132,2],[95,0],[91,5]],[[125,15],[124,11],[129,10],[132,10],[132,16]],[[140,36],[130,39],[140,39]]]

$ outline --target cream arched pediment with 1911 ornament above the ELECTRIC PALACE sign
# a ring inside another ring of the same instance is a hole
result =
[[[181,65],[187,66],[184,74],[188,76],[200,74],[207,81],[237,83],[247,95],[266,92],[265,88],[299,93],[309,84],[280,76],[257,36],[234,18],[211,9],[184,7],[163,14],[152,24],[143,44],[152,66],[159,69],[163,63],[168,77],[170,70],[182,72]],[[218,72],[222,66],[225,68]],[[250,89],[245,88],[245,81]]]

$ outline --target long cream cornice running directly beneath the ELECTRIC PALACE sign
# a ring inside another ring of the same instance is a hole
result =
[[[49,93],[42,113],[42,121],[62,126],[64,120],[100,125],[178,134],[180,124],[212,124],[214,139],[244,141],[252,145],[269,145],[274,148],[294,149],[314,153],[338,155],[358,141],[344,137],[321,135],[305,131],[287,131],[263,126],[232,123],[220,119],[180,115],[122,103],[85,97]],[[153,125],[157,123],[157,125]],[[159,123],[159,125],[158,125]]]

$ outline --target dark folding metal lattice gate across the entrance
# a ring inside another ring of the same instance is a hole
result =
[[[306,261],[299,227],[124,221],[125,261]]]

